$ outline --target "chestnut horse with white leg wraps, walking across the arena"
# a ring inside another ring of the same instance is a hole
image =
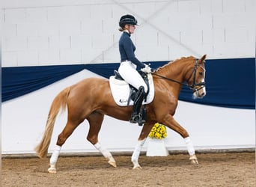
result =
[[[147,108],[147,120],[141,129],[138,143],[132,153],[133,168],[141,168],[138,164],[138,156],[150,129],[156,122],[168,126],[170,129],[179,133],[184,138],[190,156],[189,159],[193,164],[198,164],[195,149],[189,138],[189,133],[174,120],[173,116],[177,108],[178,96],[183,85],[192,89],[195,98],[205,96],[205,58],[206,55],[201,57],[201,59],[196,59],[192,56],[180,58],[159,67],[152,73],[155,93],[153,101],[145,106]],[[55,165],[61,146],[72,134],[74,129],[85,119],[88,120],[90,124],[87,136],[88,141],[90,141],[103,156],[109,159],[110,165],[116,167],[115,159],[112,154],[109,150],[102,147],[98,141],[98,133],[100,132],[105,114],[119,120],[128,121],[132,113],[132,106],[117,105],[109,87],[109,79],[102,78],[84,79],[58,93],[49,110],[43,138],[40,144],[35,148],[37,156],[40,158],[46,157],[56,116],[61,108],[65,109],[66,107],[68,112],[67,124],[61,134],[58,135],[58,141],[50,158],[50,168],[48,171],[50,173],[56,173]]]

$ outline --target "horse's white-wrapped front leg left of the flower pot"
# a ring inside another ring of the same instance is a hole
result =
[[[147,140],[147,135],[149,134],[150,130],[152,129],[153,125],[144,125],[141,129],[141,134],[138,137],[138,142],[135,146],[135,149],[132,153],[132,164],[133,169],[141,168],[141,166],[138,164],[138,157],[141,153],[141,148],[144,145],[144,142]]]

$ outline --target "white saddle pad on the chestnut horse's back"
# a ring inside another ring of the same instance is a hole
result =
[[[154,88],[153,88],[153,77],[151,74],[148,74],[148,81],[149,81],[149,87],[150,91],[147,94],[147,101],[142,104],[148,104],[152,102],[153,96],[154,96]],[[112,96],[117,103],[117,105],[120,106],[127,106],[128,105],[128,99],[129,99],[129,85],[127,82],[123,80],[115,79],[115,76],[110,76],[109,78],[109,84],[112,91]],[[129,101],[129,105],[133,105],[133,101]]]

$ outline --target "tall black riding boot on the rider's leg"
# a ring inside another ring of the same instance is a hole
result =
[[[141,86],[138,88],[138,92],[135,95],[134,104],[132,108],[132,117],[129,120],[130,123],[138,123],[138,125],[142,125],[145,120],[142,119],[141,111],[141,104],[143,102],[144,96],[146,93],[144,92],[144,87]]]

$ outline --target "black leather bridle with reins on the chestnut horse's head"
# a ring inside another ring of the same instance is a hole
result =
[[[205,82],[200,82],[200,83],[196,83],[196,82],[195,82],[195,75],[196,75],[196,71],[197,71],[198,67],[201,67],[201,69],[203,69],[204,72],[205,72],[204,67],[202,67],[201,65],[199,65],[199,64],[198,64],[198,59],[196,59],[196,60],[195,60],[195,66],[194,66],[194,68],[193,68],[193,71],[192,71],[192,73],[190,74],[189,79],[186,81],[186,82],[189,82],[189,80],[190,80],[190,79],[192,78],[192,76],[193,76],[192,85],[189,85],[189,84],[186,84],[186,83],[183,83],[183,82],[178,82],[178,81],[176,81],[176,80],[174,80],[174,79],[170,79],[170,78],[168,78],[168,77],[161,76],[161,75],[159,75],[159,74],[157,74],[157,73],[155,73],[155,72],[153,72],[152,74],[155,75],[155,76],[159,76],[159,77],[161,77],[162,79],[166,79],[166,80],[171,81],[171,82],[176,82],[176,83],[178,83],[178,84],[180,84],[180,85],[185,85],[185,86],[189,87],[190,89],[192,89],[193,92],[198,92],[199,90],[201,90],[202,88],[205,87]],[[200,86],[200,88],[198,88],[198,86]]]

